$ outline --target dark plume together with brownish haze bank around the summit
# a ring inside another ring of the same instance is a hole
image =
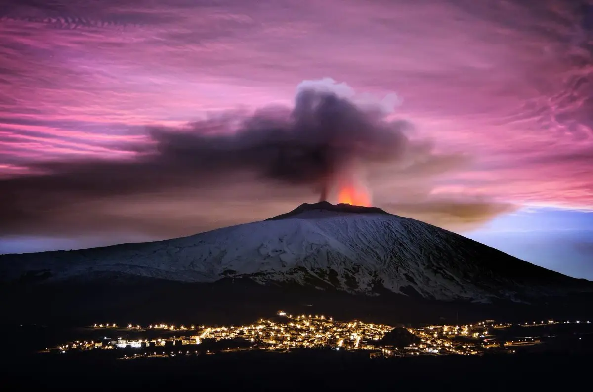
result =
[[[353,91],[345,84],[307,82],[292,109],[229,111],[176,128],[148,127],[144,140],[127,144],[132,158],[31,162],[26,174],[0,180],[0,233],[191,234],[196,224],[221,225],[213,221],[216,205],[234,204],[226,212],[234,224],[273,211],[254,205],[285,200],[283,207],[292,208],[318,195],[335,202],[336,187],[354,180],[403,185],[391,200],[415,201],[393,209],[444,226],[479,224],[508,211],[487,200],[426,199],[431,179],[467,163],[464,156],[435,152],[407,136],[411,123],[388,119],[385,106],[348,97]],[[195,208],[207,211],[191,218]]]

